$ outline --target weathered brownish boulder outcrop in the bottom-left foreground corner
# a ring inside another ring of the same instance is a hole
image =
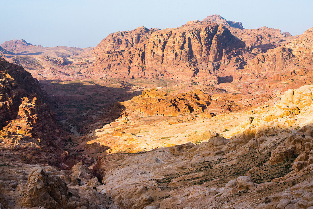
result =
[[[23,164],[18,164],[23,165]],[[88,170],[82,170],[81,175],[90,175],[87,179],[79,179],[73,174],[77,166],[73,167],[71,175],[65,170],[43,165],[23,165],[24,171],[13,168],[0,172],[0,204],[6,208],[46,208],[46,209],[100,209],[110,203],[106,196],[100,194],[97,188],[99,181]],[[85,166],[85,165],[82,165]],[[28,176],[27,173],[29,172]],[[86,172],[86,173],[85,173]],[[9,180],[12,175],[18,178]],[[11,175],[11,176],[10,176]],[[7,204],[7,199],[14,197],[15,201]],[[5,208],[2,207],[2,208]],[[116,208],[111,205],[112,208]]]

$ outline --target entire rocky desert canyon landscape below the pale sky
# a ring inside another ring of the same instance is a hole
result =
[[[0,56],[0,209],[313,208],[313,28],[210,15]]]

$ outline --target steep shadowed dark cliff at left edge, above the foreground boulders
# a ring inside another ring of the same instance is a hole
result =
[[[2,58],[0,77],[0,149],[8,155],[20,150],[29,161],[58,164],[63,134],[39,82]]]

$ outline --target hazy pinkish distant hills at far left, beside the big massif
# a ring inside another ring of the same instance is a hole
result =
[[[3,48],[1,47],[3,46]],[[79,70],[86,68],[93,48],[76,48],[68,46],[43,47],[33,45],[25,40],[10,40],[0,46],[0,55],[25,70],[31,71],[38,80],[81,78]],[[6,49],[14,51],[8,51]]]

